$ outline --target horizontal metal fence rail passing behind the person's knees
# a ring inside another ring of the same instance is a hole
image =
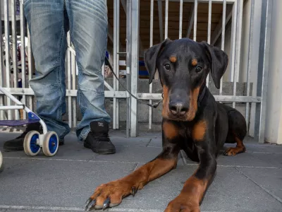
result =
[[[35,95],[31,88],[4,88],[11,95]],[[66,96],[76,97],[78,90],[66,90]],[[0,95],[2,93],[0,92]],[[105,98],[126,98],[126,91],[105,90]]]

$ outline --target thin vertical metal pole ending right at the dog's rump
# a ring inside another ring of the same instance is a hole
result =
[[[248,62],[247,62],[247,96],[250,96],[250,81],[251,81],[251,63],[252,63],[252,42],[253,42],[253,33],[254,33],[254,7],[255,0],[251,0],[251,14],[250,14],[250,31],[249,31],[249,47],[248,47]],[[247,121],[247,131],[249,131],[250,124],[250,102],[246,103],[246,121]]]

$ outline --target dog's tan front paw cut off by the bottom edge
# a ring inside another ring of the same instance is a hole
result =
[[[164,212],[200,212],[200,206],[185,194],[179,194],[173,199]]]

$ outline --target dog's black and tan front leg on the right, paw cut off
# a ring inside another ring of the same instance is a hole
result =
[[[195,173],[185,182],[182,191],[171,201],[165,212],[199,212],[200,203],[207,187],[212,182],[216,172],[216,158],[210,153],[207,141],[195,143],[200,159],[200,165]]]

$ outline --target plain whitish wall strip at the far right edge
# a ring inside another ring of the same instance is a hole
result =
[[[272,8],[269,81],[266,105],[265,139],[282,144],[282,1],[274,0]]]

